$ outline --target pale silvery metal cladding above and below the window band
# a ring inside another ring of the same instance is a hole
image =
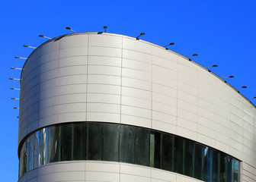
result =
[[[19,108],[19,155],[30,134],[42,128],[123,124],[224,152],[241,162],[240,181],[256,181],[255,106],[206,68],[142,39],[72,33],[48,40],[24,64]],[[42,165],[19,181],[32,179],[196,181],[146,166],[89,160]]]

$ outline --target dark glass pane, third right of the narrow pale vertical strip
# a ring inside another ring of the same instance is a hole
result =
[[[183,174],[183,150],[184,140],[181,137],[174,137],[174,172]]]

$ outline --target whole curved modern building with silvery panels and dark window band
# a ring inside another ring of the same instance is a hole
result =
[[[245,96],[142,39],[58,36],[21,73],[19,182],[252,182],[255,132]]]

